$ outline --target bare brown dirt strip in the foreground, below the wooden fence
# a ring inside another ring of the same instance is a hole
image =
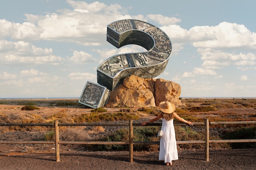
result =
[[[158,161],[158,152],[135,152],[133,163],[129,152],[69,152],[0,156],[1,170],[256,170],[256,149],[210,150],[204,161],[204,150],[179,150],[173,166]]]

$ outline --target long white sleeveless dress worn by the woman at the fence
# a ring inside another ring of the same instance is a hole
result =
[[[171,161],[178,159],[173,119],[167,121],[163,118],[161,130],[163,135],[160,138],[159,160],[164,160],[164,163],[171,163]]]

